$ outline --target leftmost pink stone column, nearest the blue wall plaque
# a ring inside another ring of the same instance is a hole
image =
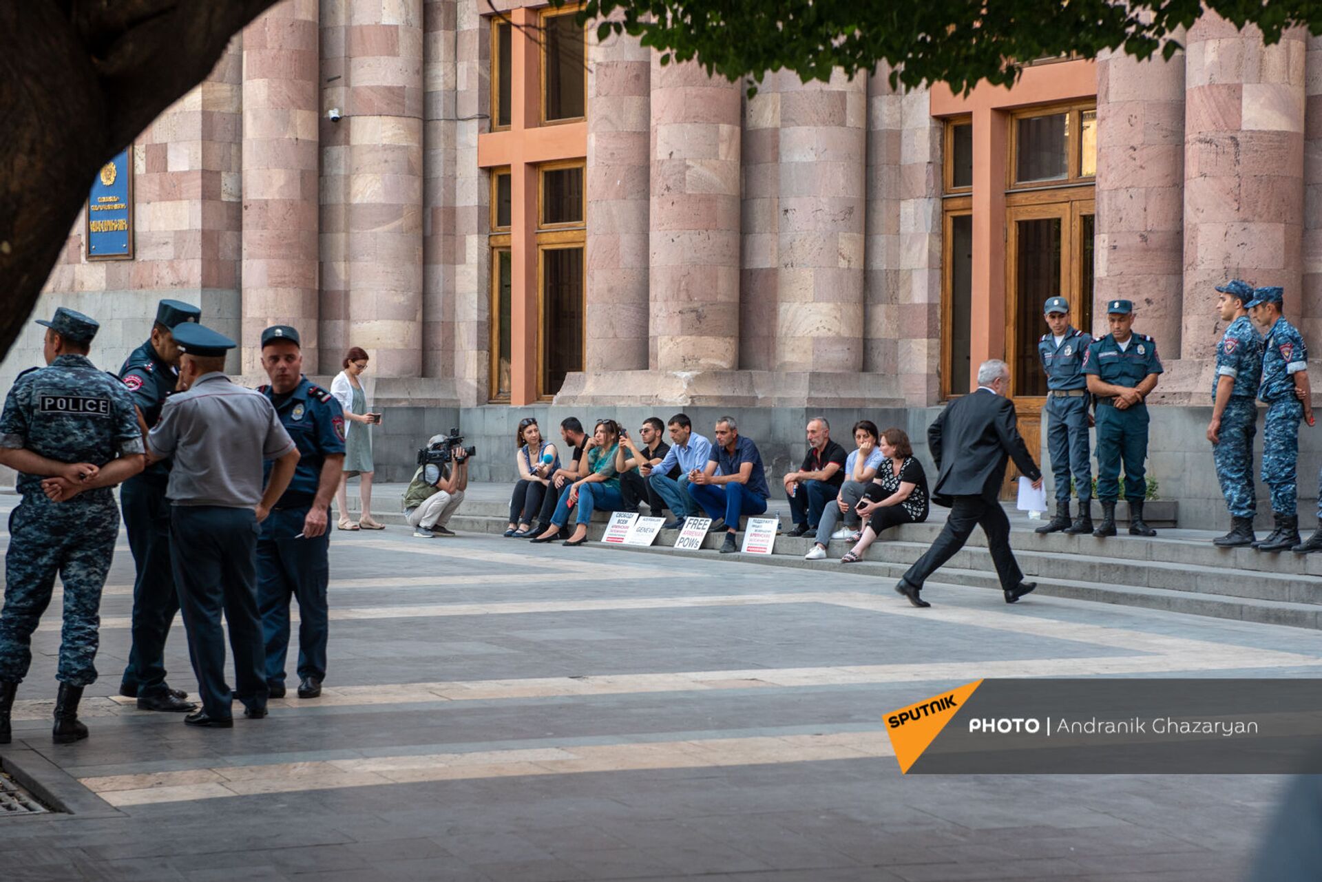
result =
[[[299,329],[319,366],[317,0],[284,0],[243,32],[243,372],[260,335]]]

